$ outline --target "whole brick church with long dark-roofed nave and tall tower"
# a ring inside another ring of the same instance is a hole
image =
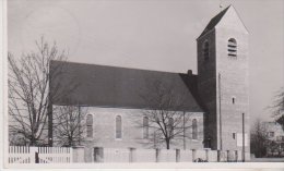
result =
[[[175,139],[171,148],[240,150],[245,113],[245,144],[249,151],[248,42],[248,30],[230,5],[214,16],[197,38],[198,75],[191,71],[169,73],[64,62],[66,74],[59,80],[51,77],[51,93],[58,84],[61,89],[70,86],[73,78],[80,84],[51,103],[88,107],[85,146],[153,148],[152,137],[146,135],[151,130],[145,133],[137,125],[147,124],[142,113],[157,107],[141,96],[151,96],[153,89],[145,88],[150,80],[163,85],[174,83],[174,96],[184,99],[178,112],[189,114],[192,126],[186,131],[186,141]],[[193,53],[189,58],[194,58]],[[52,61],[51,69],[60,63]],[[51,123],[49,129],[51,137]]]

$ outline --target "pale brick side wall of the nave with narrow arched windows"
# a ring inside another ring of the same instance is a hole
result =
[[[104,148],[166,148],[165,144],[159,144],[154,147],[153,137],[143,139],[143,110],[140,109],[121,109],[121,108],[96,108],[96,107],[81,107],[82,111],[87,111],[87,114],[93,115],[93,137],[86,137],[86,129],[83,127],[85,152],[92,156],[94,147]],[[181,113],[182,114],[182,113]],[[198,139],[191,139],[191,129],[186,131],[188,138],[186,138],[187,149],[203,149],[203,113],[187,112],[191,118],[198,120]],[[122,138],[116,138],[116,117],[121,115],[122,119]],[[184,138],[174,139],[170,145],[171,149],[184,149]],[[91,152],[91,154],[90,154]],[[85,159],[92,161],[92,159]]]

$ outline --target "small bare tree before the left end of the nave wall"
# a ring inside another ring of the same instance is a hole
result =
[[[84,141],[84,118],[87,108],[80,106],[61,106],[54,111],[54,136],[55,142],[60,146],[72,147],[81,145]]]

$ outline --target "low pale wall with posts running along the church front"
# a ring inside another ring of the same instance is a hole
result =
[[[74,162],[239,162],[240,150],[211,149],[137,149],[137,148],[73,148]],[[88,159],[87,161],[85,159]],[[250,154],[246,154],[246,161]],[[92,161],[91,161],[92,160]]]

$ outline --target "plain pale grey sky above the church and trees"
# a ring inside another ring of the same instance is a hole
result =
[[[249,30],[251,122],[271,120],[284,84],[283,0],[9,0],[8,50],[20,57],[44,36],[73,62],[197,74],[196,39],[220,4]]]

